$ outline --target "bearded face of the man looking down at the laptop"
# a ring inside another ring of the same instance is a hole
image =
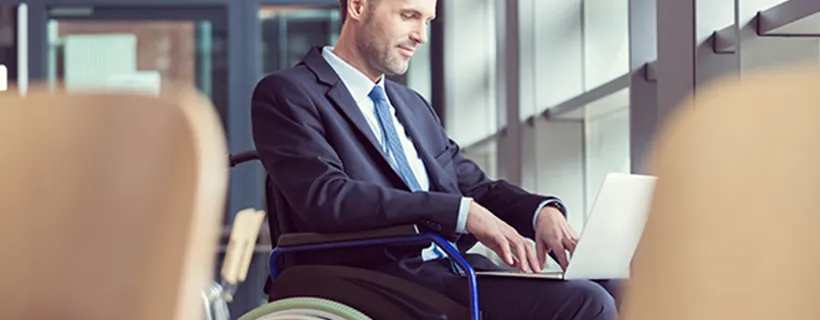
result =
[[[387,75],[405,73],[415,50],[427,42],[436,0],[380,0],[368,11],[356,39],[365,62]]]

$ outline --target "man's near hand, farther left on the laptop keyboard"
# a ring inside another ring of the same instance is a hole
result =
[[[528,265],[534,272],[541,272],[543,269],[535,256],[535,249],[527,239],[475,201],[470,202],[466,227],[470,234],[495,251],[508,265],[518,266],[521,272],[527,272]]]

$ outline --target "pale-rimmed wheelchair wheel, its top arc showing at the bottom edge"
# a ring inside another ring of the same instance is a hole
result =
[[[372,320],[342,303],[313,297],[273,301],[242,315],[238,320]]]

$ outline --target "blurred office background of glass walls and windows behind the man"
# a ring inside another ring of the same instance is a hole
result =
[[[256,82],[311,46],[332,45],[337,6],[0,0],[0,64],[21,94],[34,83],[105,85],[111,74],[129,75],[114,85],[131,89],[191,84],[217,108],[229,151],[240,153],[254,148]],[[645,173],[657,130],[700,88],[820,62],[818,13],[816,0],[439,0],[430,42],[395,80],[431,101],[490,176],[560,195],[582,230],[603,177]],[[258,163],[231,169],[225,233],[240,210],[264,208],[264,177]],[[264,229],[234,315],[267,301]]]

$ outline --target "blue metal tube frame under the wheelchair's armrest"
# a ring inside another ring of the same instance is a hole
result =
[[[230,167],[233,168],[234,166],[251,161],[251,160],[258,160],[259,154],[256,151],[246,151],[243,153],[239,153],[229,157]],[[268,195],[266,195],[268,196]],[[435,233],[419,233],[414,235],[403,235],[403,236],[390,236],[390,237],[382,237],[382,238],[371,238],[371,239],[359,239],[359,240],[343,240],[343,241],[336,241],[336,242],[329,242],[329,243],[316,243],[316,244],[304,244],[304,245],[293,245],[287,247],[275,247],[270,254],[270,258],[268,260],[270,266],[270,277],[271,279],[275,280],[276,277],[279,276],[280,270],[276,265],[277,258],[285,253],[294,253],[294,252],[306,252],[306,251],[315,251],[315,250],[326,250],[326,249],[342,249],[342,248],[352,248],[352,247],[363,247],[363,246],[372,246],[372,245],[387,245],[387,244],[397,244],[397,243],[412,243],[412,242],[420,242],[420,241],[432,241],[439,248],[443,249],[447,256],[456,263],[456,265],[461,268],[462,271],[466,274],[467,282],[468,282],[468,289],[470,295],[470,319],[471,320],[479,320],[480,313],[478,308],[478,281],[476,279],[476,273],[473,267],[464,259],[463,256],[454,248],[447,240],[442,238],[440,235]]]

